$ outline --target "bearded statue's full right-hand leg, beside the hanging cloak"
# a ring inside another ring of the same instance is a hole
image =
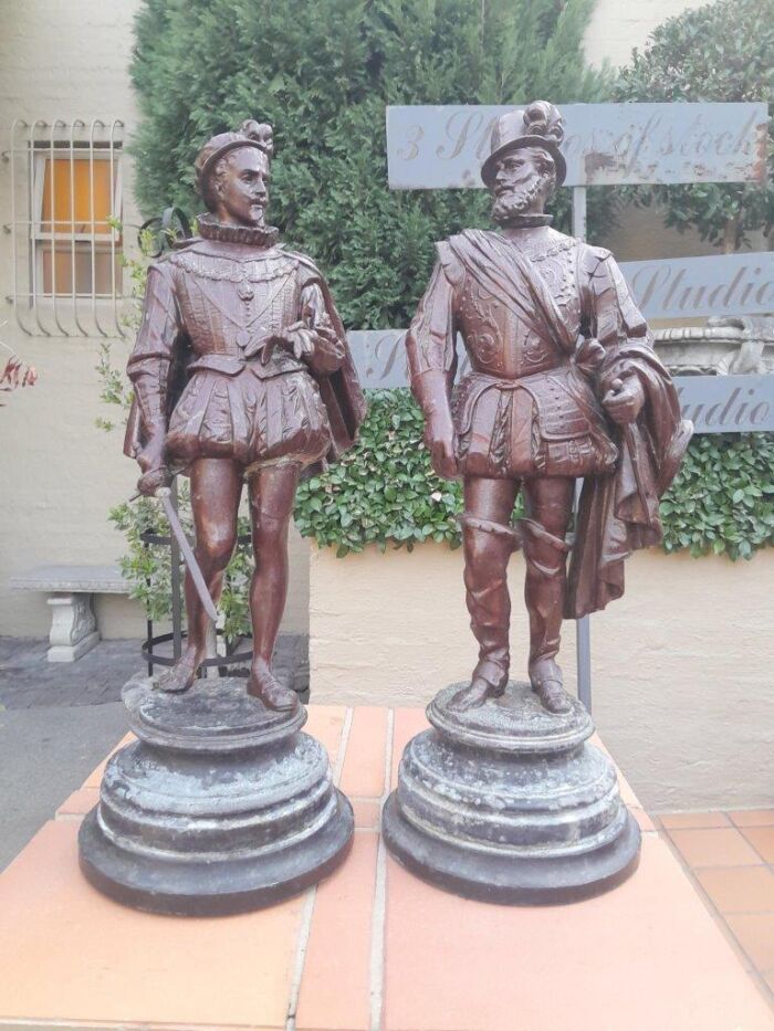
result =
[[[574,480],[548,476],[524,484],[527,518],[520,522],[530,613],[530,680],[544,707],[567,712],[562,671],[554,661],[562,632],[567,590],[565,535],[573,505]]]

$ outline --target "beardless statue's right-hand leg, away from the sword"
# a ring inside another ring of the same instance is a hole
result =
[[[294,709],[299,696],[271,672],[274,643],[287,597],[287,528],[301,464],[265,465],[250,478],[255,571],[250,585],[253,659],[248,693],[279,711]]]

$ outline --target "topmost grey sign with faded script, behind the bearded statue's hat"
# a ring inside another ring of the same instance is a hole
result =
[[[763,182],[765,103],[567,104],[566,186]],[[394,190],[482,188],[494,120],[512,106],[387,107]]]

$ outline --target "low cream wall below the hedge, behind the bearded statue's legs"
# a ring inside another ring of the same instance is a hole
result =
[[[771,806],[774,550],[752,561],[653,550],[590,620],[595,722],[655,810]],[[316,702],[421,705],[470,676],[461,551],[436,544],[336,559],[312,550]],[[523,559],[511,560],[513,675],[526,673]],[[575,690],[574,623],[561,659]]]

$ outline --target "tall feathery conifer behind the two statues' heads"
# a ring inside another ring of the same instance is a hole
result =
[[[198,211],[198,146],[245,117],[270,122],[272,221],[321,263],[346,325],[407,325],[433,242],[488,224],[489,199],[390,192],[385,105],[603,99],[607,76],[582,52],[593,3],[145,0],[132,69],[140,206]]]

